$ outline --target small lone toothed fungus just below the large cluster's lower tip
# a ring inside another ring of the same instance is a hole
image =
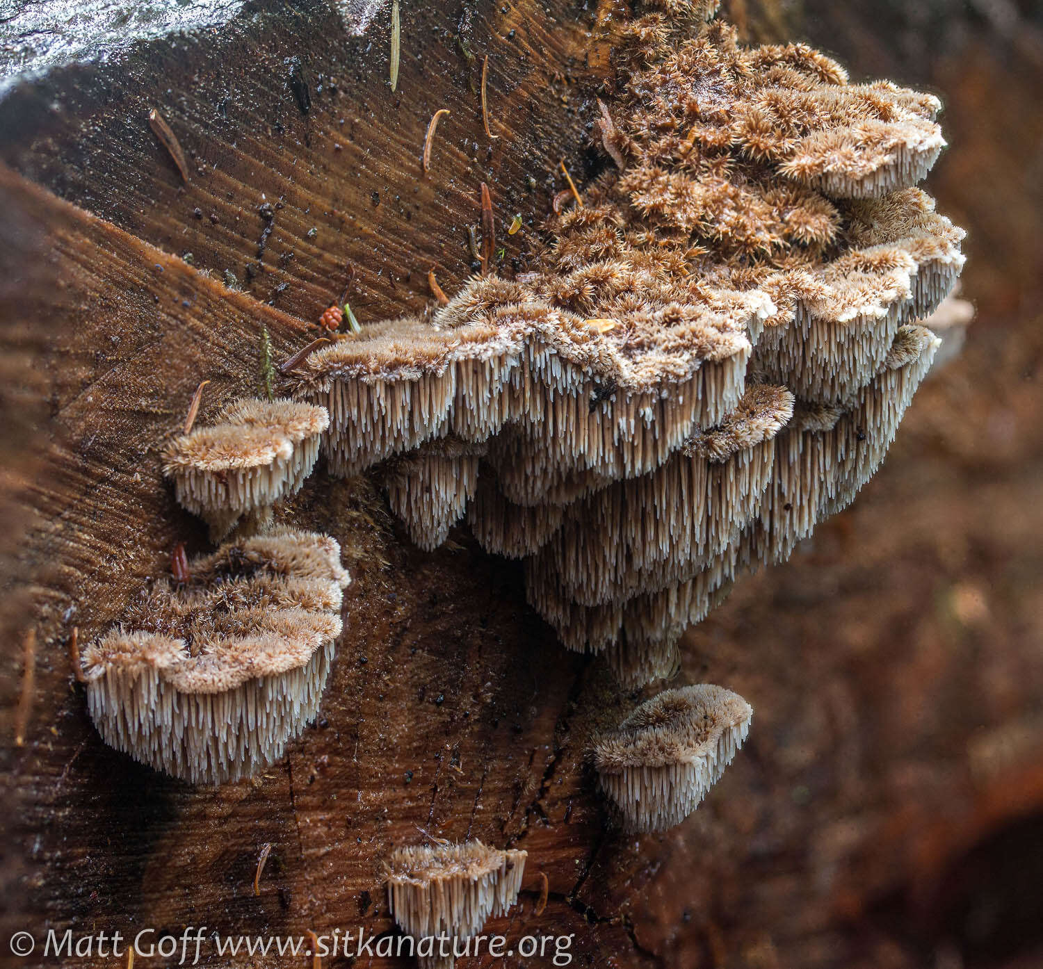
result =
[[[601,736],[595,768],[624,827],[664,831],[687,818],[743,746],[752,717],[737,694],[700,683],[663,691]]]

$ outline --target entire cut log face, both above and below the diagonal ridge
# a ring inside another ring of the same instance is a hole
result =
[[[277,364],[353,276],[364,323],[421,309],[432,267],[453,292],[471,271],[482,181],[503,224],[525,221],[500,234],[503,271],[515,271],[560,160],[593,172],[584,125],[611,73],[601,14],[404,6],[395,94],[382,17],[353,35],[332,7],[247,5],[220,30],[52,70],[0,103],[15,274],[0,293],[4,374],[18,391],[5,403],[25,415],[4,431],[22,540],[0,550],[5,728],[26,720],[24,746],[4,753],[10,931],[381,932],[392,927],[383,862],[430,834],[529,850],[522,904],[490,930],[574,934],[585,962],[634,952],[624,923],[578,894],[602,842],[585,738],[629,703],[526,608],[515,565],[464,531],[417,552],[366,479],[334,481],[320,462],[283,510],[341,542],[353,584],[321,718],[264,776],[207,790],[139,767],[101,743],[73,682],[72,627],[89,641],[169,568],[177,541],[207,547],[160,468],[200,380],[200,421],[258,392],[262,324]],[[486,54],[496,141],[481,115]],[[149,126],[153,108],[188,183]],[[29,626],[34,685],[20,705]],[[221,964],[213,945],[202,958]]]

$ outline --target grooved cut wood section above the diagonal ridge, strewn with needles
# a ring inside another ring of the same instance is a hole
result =
[[[477,216],[481,181],[503,211],[545,214],[548,179],[584,146],[591,95],[611,73],[608,28],[590,15],[578,19],[563,0],[501,6],[468,4],[464,20],[443,4],[403,7],[392,94],[386,11],[373,43],[349,35],[333,6],[272,4],[219,34],[143,45],[119,67],[13,92],[0,102],[0,161],[301,319],[337,298],[348,260],[361,320],[417,310],[430,266],[450,293],[469,272],[462,225]],[[474,91],[461,43],[478,52]],[[488,96],[504,132],[491,147],[482,53],[496,66]],[[307,114],[291,80],[307,86]],[[177,131],[187,186],[149,127],[153,107]],[[428,123],[443,107],[453,111],[421,177]],[[520,251],[508,246],[508,259]]]

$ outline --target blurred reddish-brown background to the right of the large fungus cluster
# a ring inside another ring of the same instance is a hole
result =
[[[688,634],[686,673],[758,698],[774,768],[736,808],[748,858],[722,863],[718,911],[692,917],[710,950],[727,939],[722,965],[1040,966],[1043,8],[731,10],[853,79],[943,98],[950,147],[927,188],[968,229],[977,318],[851,509]],[[713,878],[703,847],[677,864]]]

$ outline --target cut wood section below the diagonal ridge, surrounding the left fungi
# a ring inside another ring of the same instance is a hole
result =
[[[270,842],[280,866],[266,881],[277,878],[280,892],[236,906],[244,931],[304,931],[305,923],[332,930],[345,919],[380,931],[390,926],[381,862],[415,840],[417,826],[453,840],[528,841],[531,828],[541,829],[555,730],[587,662],[561,651],[526,609],[516,567],[485,560],[469,541],[434,555],[412,550],[365,479],[320,475],[286,510],[341,541],[354,579],[322,720],[286,761],[252,782],[196,791],[101,744],[82,695],[70,689],[66,616],[89,640],[169,567],[176,541],[192,552],[205,546],[200,523],[176,507],[161,478],[159,449],[181,430],[199,373],[211,380],[200,419],[256,389],[260,320],[276,354],[310,334],[304,321],[252,304],[18,176],[2,178],[8,211],[21,208],[45,233],[66,283],[46,308],[51,366],[64,374],[54,413],[65,433],[33,483],[46,525],[30,530],[20,561],[34,610],[19,619],[37,624],[39,653],[49,659],[39,663],[26,752],[11,764],[17,790],[6,792],[25,828],[44,832],[34,865],[62,874],[47,878],[44,896],[26,900],[21,917],[44,904],[68,926],[89,917],[115,929],[128,913],[141,924],[191,921],[193,910],[225,911],[229,892],[250,896],[258,853]],[[604,706],[622,708],[620,699]],[[544,928],[582,921],[563,898],[599,831],[585,784],[577,770],[572,848],[559,844],[543,864],[560,896],[556,917],[553,898],[548,905]],[[136,858],[130,867],[101,862],[114,843]],[[336,897],[315,896],[316,879],[332,879]],[[76,886],[88,883],[97,894],[80,900]]]

